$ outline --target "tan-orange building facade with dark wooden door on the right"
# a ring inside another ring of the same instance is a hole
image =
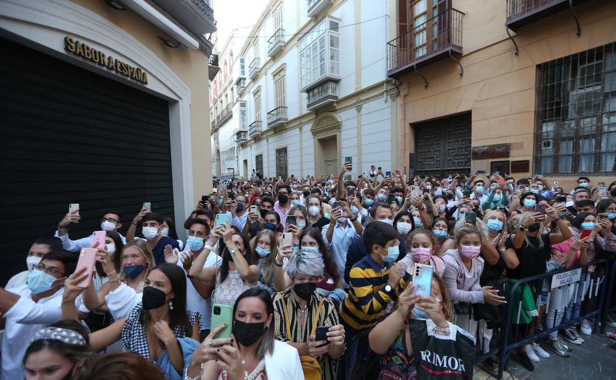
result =
[[[387,75],[411,173],[616,177],[616,2],[399,0]]]

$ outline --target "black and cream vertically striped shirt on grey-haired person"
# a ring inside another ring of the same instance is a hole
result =
[[[304,313],[304,328],[299,326],[299,304],[296,301],[292,287],[272,295],[274,300],[274,329],[276,339],[280,341],[291,341],[296,343],[303,343],[308,340],[310,331],[312,331],[312,323],[314,321],[315,313],[318,309],[318,304],[323,299],[323,296],[314,292],[310,301],[306,304],[306,311]],[[285,325],[285,313],[282,308],[282,302],[285,302],[286,310],[289,312],[290,329],[292,336],[286,336]],[[339,325],[338,311],[333,302],[329,298],[325,298],[323,301],[323,307],[318,315],[317,326],[336,326]],[[301,331],[300,331],[301,330]],[[336,368],[338,366],[338,360],[330,357],[330,354],[323,354],[317,358],[318,363],[321,366],[323,380],[336,379]]]

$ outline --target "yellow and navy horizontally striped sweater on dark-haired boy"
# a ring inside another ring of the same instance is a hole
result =
[[[411,275],[404,272],[404,277],[391,293],[382,289],[389,281],[390,263],[382,268],[370,255],[363,257],[353,265],[349,274],[349,293],[340,303],[340,320],[347,331],[362,331],[376,325],[385,312],[387,302],[395,300],[411,280]]]

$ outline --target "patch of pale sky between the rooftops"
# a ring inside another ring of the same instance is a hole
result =
[[[257,22],[267,2],[268,0],[213,0],[219,51],[233,29]]]

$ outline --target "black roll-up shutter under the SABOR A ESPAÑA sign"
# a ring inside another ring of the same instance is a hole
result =
[[[79,203],[71,238],[108,209],[173,215],[168,102],[0,38],[0,284]]]

